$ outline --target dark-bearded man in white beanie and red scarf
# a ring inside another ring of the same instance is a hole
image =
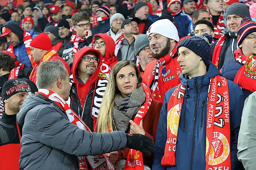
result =
[[[153,98],[163,103],[165,93],[180,83],[178,31],[169,19],[154,22],[148,30],[149,45],[156,60],[146,66],[143,81],[150,87]]]

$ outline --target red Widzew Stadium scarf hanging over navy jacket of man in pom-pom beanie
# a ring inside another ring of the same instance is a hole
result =
[[[186,87],[179,84],[167,106],[167,140],[161,165],[176,165],[175,151],[179,119]],[[221,95],[221,96],[219,96]],[[230,110],[227,79],[219,75],[211,78],[207,98],[206,170],[213,167],[231,169]],[[225,107],[224,107],[225,106]]]

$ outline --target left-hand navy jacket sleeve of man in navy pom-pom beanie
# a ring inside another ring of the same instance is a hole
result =
[[[164,155],[165,143],[167,140],[167,106],[172,91],[169,90],[164,96],[163,106],[160,112],[160,118],[157,126],[157,135],[155,140],[154,163],[152,169],[166,170],[166,166],[161,165],[161,160]]]

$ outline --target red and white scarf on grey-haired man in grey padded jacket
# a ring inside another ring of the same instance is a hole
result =
[[[60,95],[48,89],[38,89],[38,92],[36,92],[36,94],[41,94],[44,97],[49,98],[51,101],[56,103],[62,110],[65,111],[69,122],[71,122],[74,125],[77,125],[80,129],[92,133],[91,130],[87,127],[87,125],[83,122],[83,120],[79,118],[79,116],[77,116],[77,114],[69,107],[69,105]],[[86,159],[88,160],[93,170],[114,170],[114,166],[110,163],[110,161],[104,154],[97,156],[78,157],[79,170],[88,169]]]

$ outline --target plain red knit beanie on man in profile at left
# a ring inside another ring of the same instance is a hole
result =
[[[30,46],[42,50],[50,50],[52,48],[52,42],[46,33],[38,34],[31,42]]]

